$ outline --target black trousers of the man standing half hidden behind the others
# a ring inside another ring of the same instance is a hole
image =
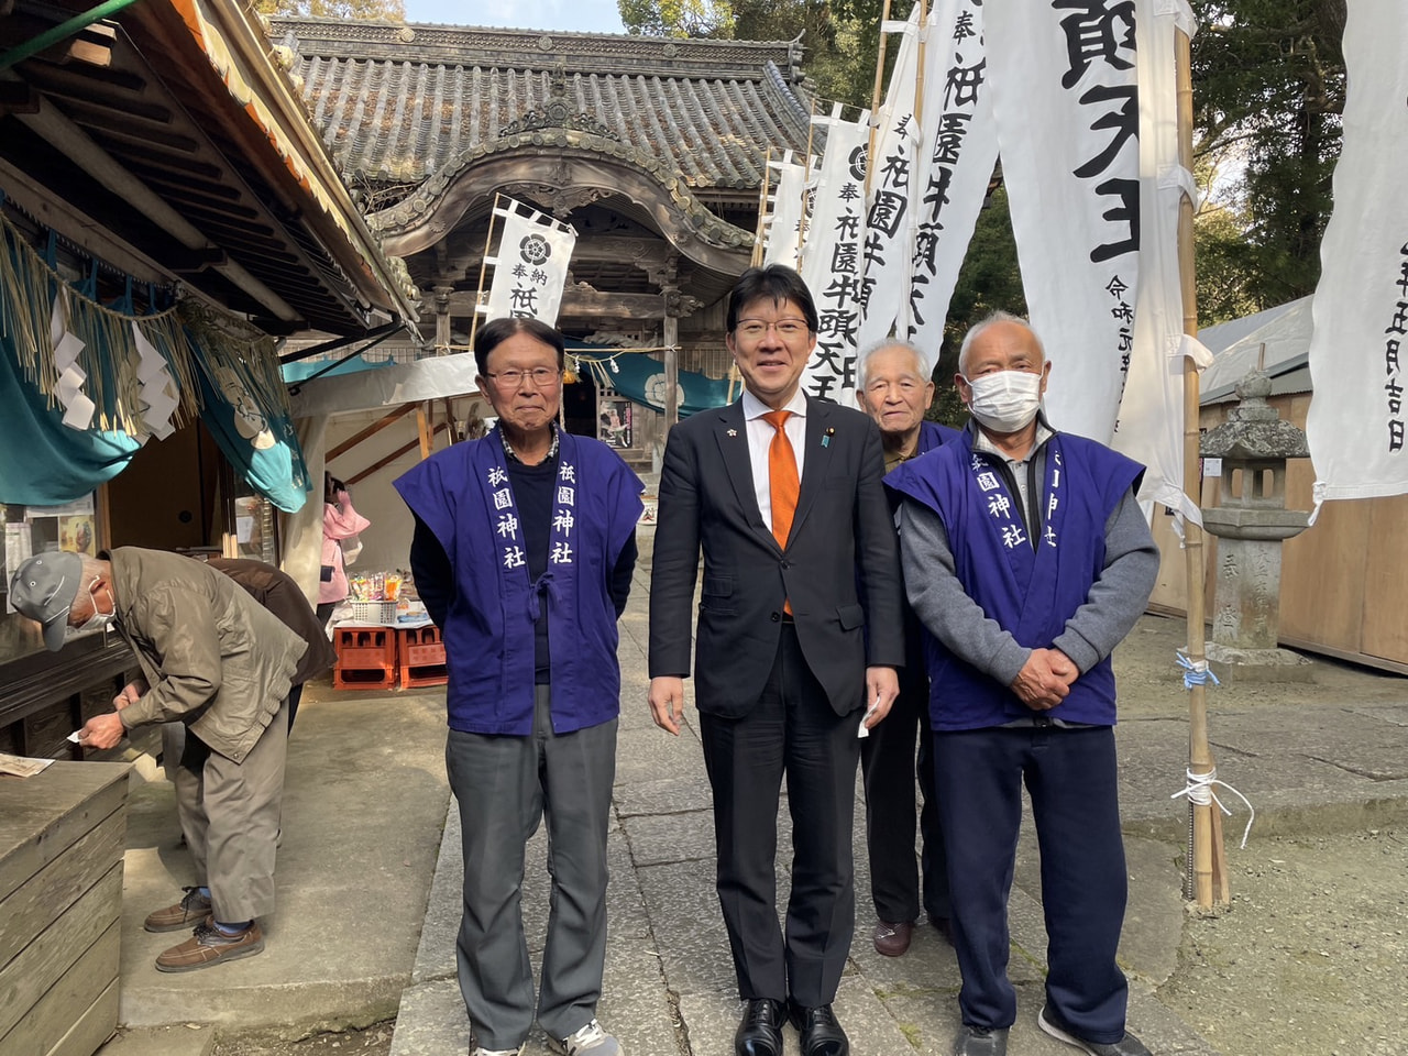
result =
[[[915,739],[919,742],[915,760]],[[934,796],[934,734],[929,731],[929,679],[900,673],[900,696],[883,722],[860,742],[866,787],[866,850],[876,917],[890,924],[917,921],[919,898],[929,919],[949,918],[949,865]],[[914,860],[915,787],[919,791],[919,869]]]

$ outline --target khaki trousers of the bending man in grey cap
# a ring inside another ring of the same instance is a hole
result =
[[[289,701],[242,763],[211,752],[186,731],[176,769],[176,814],[196,862],[196,883],[210,887],[217,921],[239,924],[273,912],[273,863],[289,749]]]

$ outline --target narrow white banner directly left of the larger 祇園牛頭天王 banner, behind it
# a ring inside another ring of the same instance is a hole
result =
[[[865,279],[857,348],[888,337],[910,289],[910,246],[914,238],[912,187],[919,128],[915,82],[919,73],[919,6],[905,23],[884,23],[881,32],[900,34],[884,106],[876,115],[874,169],[866,200]]]

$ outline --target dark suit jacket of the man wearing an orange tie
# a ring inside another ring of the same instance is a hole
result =
[[[867,665],[904,665],[904,591],[881,484],[880,431],[859,411],[808,397],[805,444],[801,494],[783,551],[758,508],[742,404],[701,411],[670,429],[650,573],[650,676],[690,670],[690,607],[703,548],[694,667],[700,711],[741,715],[758,701],[777,656],[784,600],[807,663],[838,714],[867,703]]]

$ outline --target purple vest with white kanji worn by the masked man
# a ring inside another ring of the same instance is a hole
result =
[[[886,476],[886,486],[938,513],[963,590],[1018,643],[1048,649],[1105,563],[1105,522],[1143,467],[1102,444],[1057,434],[1046,444],[1036,545],[1017,508],[1021,496],[997,456],[974,453],[972,432]],[[1035,712],[925,631],[929,715],[935,729],[980,729]],[[1114,725],[1115,674],[1107,656],[1070,696],[1042,712],[1067,722]]]

